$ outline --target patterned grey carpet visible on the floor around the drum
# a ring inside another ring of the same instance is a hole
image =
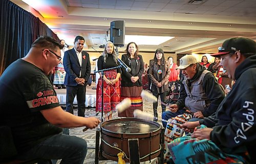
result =
[[[95,91],[96,93],[96,90],[91,90],[93,86],[91,87],[87,87],[87,90],[90,90],[89,93],[93,93]],[[63,94],[63,89],[61,90],[61,94]],[[60,92],[57,91],[57,93]],[[160,102],[160,98],[158,100],[158,123],[161,125],[161,102]],[[143,100],[143,112],[147,112],[147,113],[150,113],[153,115],[153,103],[152,102],[146,102],[145,100]],[[77,109],[74,109],[74,115],[77,115]],[[88,107],[86,109],[86,112],[85,112],[85,115],[86,117],[97,117],[101,120],[101,113],[99,113],[97,116],[96,116],[96,112],[95,112],[95,108],[93,107]],[[114,112],[113,113],[113,119],[115,118],[118,118],[117,116],[117,113]],[[70,129],[70,135],[75,135],[75,136],[78,136],[84,140],[87,141],[87,144],[88,144],[88,153],[87,153],[87,156],[86,158],[84,159],[84,162],[83,163],[95,163],[95,143],[96,143],[96,129],[89,129],[85,132],[82,131],[83,127],[79,127],[79,128],[71,128]],[[57,163],[59,163],[60,160],[58,160]],[[113,163],[117,163],[116,161],[112,161],[112,160],[99,160],[99,163],[107,163],[107,164],[113,164]],[[157,161],[157,159],[152,159],[151,162],[150,161],[145,161],[145,162],[141,162],[143,164],[146,164],[146,163],[159,163]]]

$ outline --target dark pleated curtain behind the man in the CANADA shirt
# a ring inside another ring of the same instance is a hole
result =
[[[1,0],[0,9],[0,75],[12,62],[26,56],[38,36],[59,40],[39,18],[9,0]]]

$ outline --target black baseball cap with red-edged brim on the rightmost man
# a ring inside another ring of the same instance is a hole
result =
[[[243,37],[236,37],[225,40],[219,52],[210,54],[212,57],[221,57],[223,54],[240,51],[241,53],[256,53],[256,43],[254,40]]]

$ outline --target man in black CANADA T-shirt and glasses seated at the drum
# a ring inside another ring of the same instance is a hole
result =
[[[95,117],[74,116],[60,107],[48,76],[61,60],[60,49],[53,38],[39,37],[27,56],[13,62],[0,77],[0,126],[11,128],[18,159],[83,163],[86,141],[62,134],[62,128],[95,128],[100,123]]]

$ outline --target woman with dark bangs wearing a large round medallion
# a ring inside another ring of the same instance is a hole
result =
[[[150,89],[154,96],[158,99],[159,95],[162,102],[166,102],[166,91],[168,90],[168,78],[170,76],[169,64],[164,59],[164,52],[158,48],[155,52],[154,60],[150,61],[148,74],[151,78]],[[158,102],[153,103],[154,121],[158,121],[157,113]],[[162,113],[165,112],[166,106],[161,104]]]

